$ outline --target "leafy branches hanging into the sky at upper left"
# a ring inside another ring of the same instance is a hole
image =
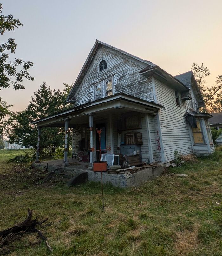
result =
[[[2,13],[1,3],[0,13]],[[6,31],[14,31],[15,28],[21,26],[23,24],[18,19],[14,19],[12,15],[0,15],[1,35]],[[8,88],[10,84],[13,85],[13,89],[15,90],[25,89],[25,86],[22,84],[23,79],[34,80],[34,77],[29,75],[29,69],[33,66],[33,62],[25,62],[20,59],[15,59],[13,62],[9,61],[10,53],[15,53],[16,46],[13,38],[9,38],[7,43],[0,45],[0,90],[1,88]],[[17,71],[18,67],[21,67],[20,71]]]

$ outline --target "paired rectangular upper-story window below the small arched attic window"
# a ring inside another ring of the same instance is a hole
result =
[[[105,79],[95,85],[95,100],[113,95],[113,79]]]

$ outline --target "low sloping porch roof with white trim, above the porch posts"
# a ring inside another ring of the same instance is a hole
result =
[[[69,127],[72,128],[75,127],[76,124],[88,122],[88,115],[90,114],[107,116],[107,113],[121,114],[136,111],[156,115],[160,108],[164,107],[154,102],[142,100],[124,93],[117,93],[106,98],[66,109],[54,115],[43,117],[32,121],[31,124],[36,124],[39,127],[64,127],[65,120],[68,119],[70,120]]]

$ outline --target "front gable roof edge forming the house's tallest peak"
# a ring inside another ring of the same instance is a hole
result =
[[[133,59],[135,59],[135,60],[137,60],[137,61],[140,61],[140,62],[142,62],[142,63],[144,63],[144,64],[147,64],[147,65],[149,65],[149,66],[155,66],[155,65],[154,65],[152,62],[150,62],[150,61],[143,60],[143,59],[141,59],[141,58],[139,58],[139,57],[136,57],[136,56],[134,56],[134,55],[132,55],[132,54],[130,54],[130,53],[127,53],[127,52],[125,52],[125,51],[123,51],[123,50],[120,50],[120,49],[118,49],[118,48],[116,48],[116,47],[114,47],[114,46],[111,46],[111,45],[109,45],[109,44],[107,44],[107,43],[103,43],[103,42],[101,42],[101,41],[99,41],[99,40],[96,39],[96,41],[95,41],[95,43],[94,43],[94,45],[93,45],[93,48],[91,49],[91,51],[90,51],[90,53],[89,53],[89,55],[88,55],[88,57],[87,57],[85,63],[83,64],[83,67],[82,67],[82,69],[81,69],[79,75],[77,76],[77,79],[76,79],[75,83],[73,84],[73,87],[72,87],[72,89],[71,89],[69,95],[67,96],[67,99],[66,99],[66,102],[67,102],[67,103],[69,103],[69,102],[71,102],[71,101],[76,101],[74,95],[75,95],[76,91],[78,90],[78,87],[80,86],[80,84],[81,84],[81,82],[82,82],[84,76],[86,75],[86,72],[88,71],[88,68],[89,68],[90,64],[93,62],[94,57],[95,57],[95,54],[96,54],[96,52],[97,52],[97,49],[98,49],[99,46],[101,46],[101,45],[104,45],[104,46],[106,46],[106,47],[108,47],[108,48],[110,48],[110,49],[113,49],[113,50],[115,50],[115,51],[117,51],[117,52],[120,52],[121,54],[124,54],[124,55],[126,55],[126,56],[129,56],[129,57],[131,57],[131,58],[133,58]]]

